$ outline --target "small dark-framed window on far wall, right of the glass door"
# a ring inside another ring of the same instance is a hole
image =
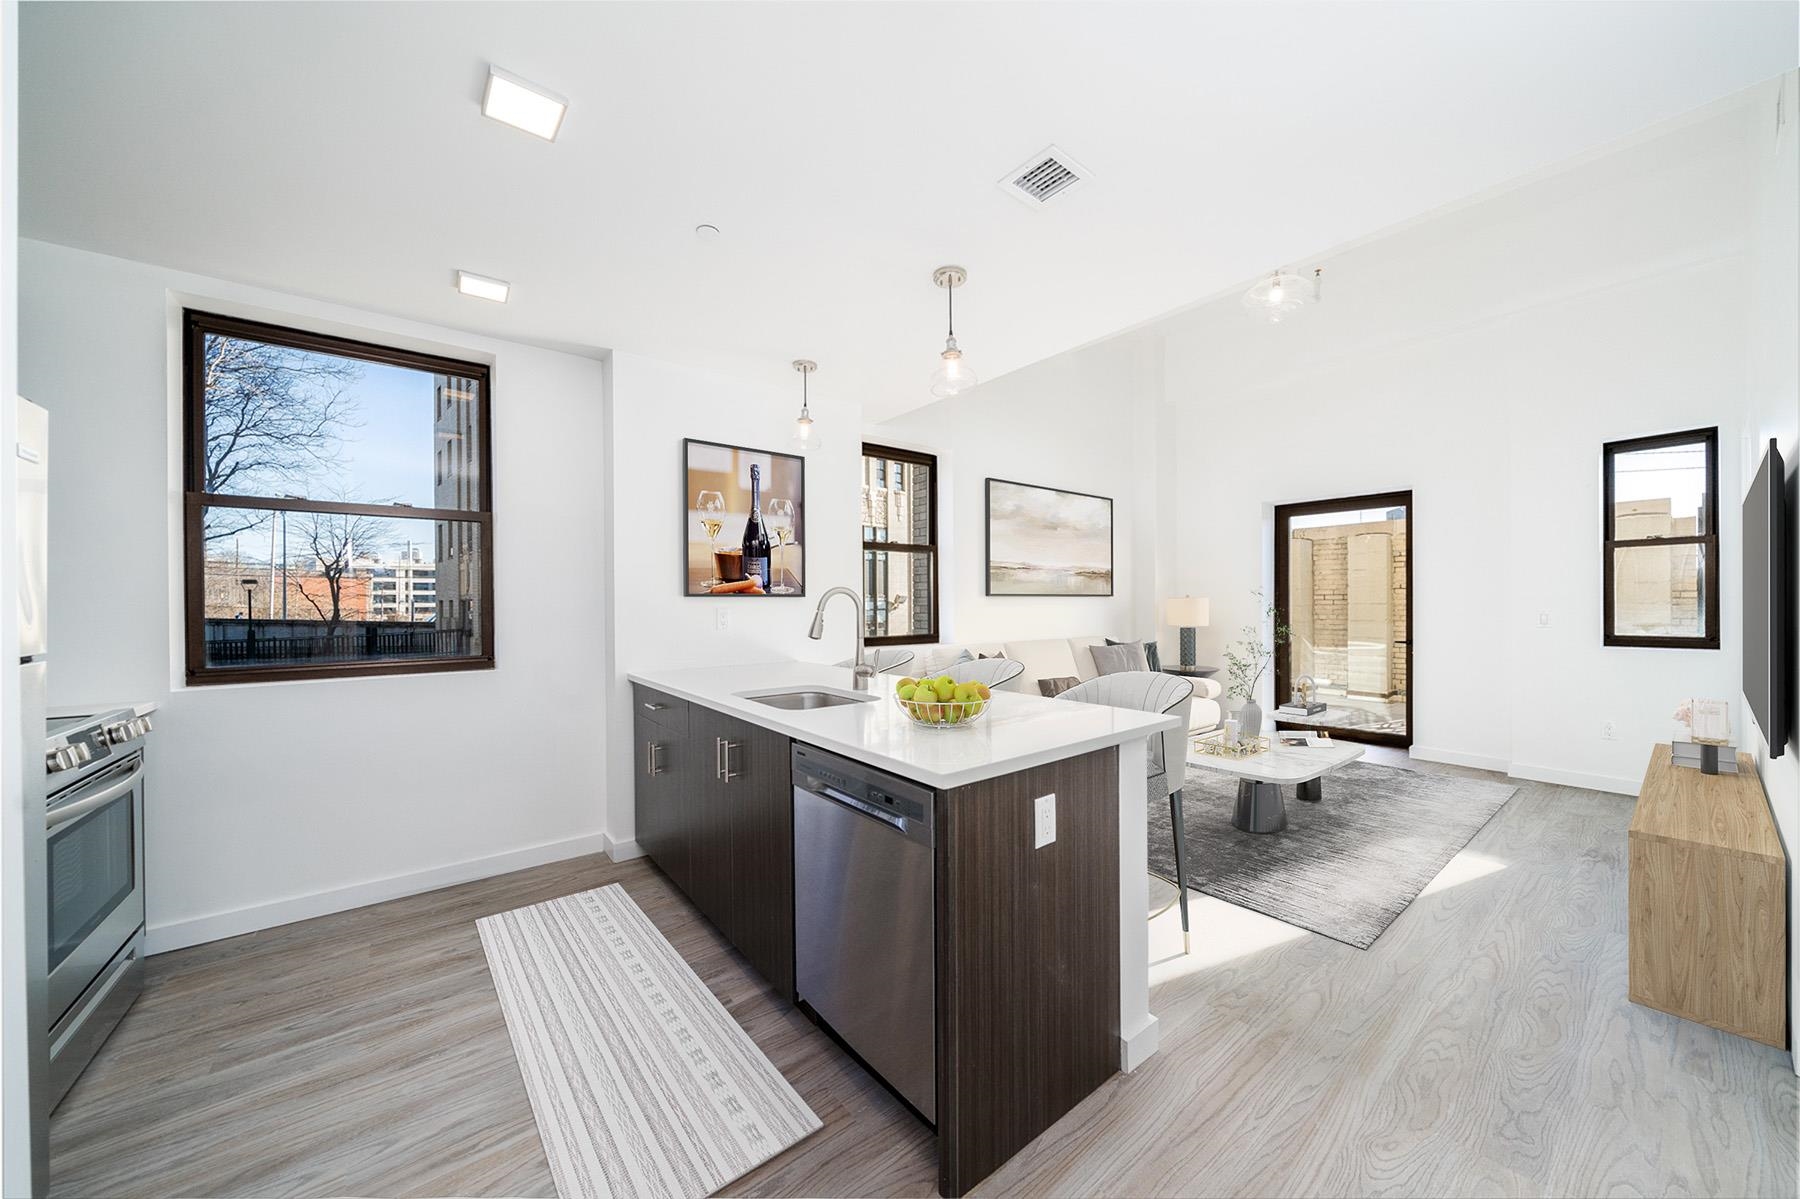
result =
[[[1606,645],[1719,648],[1719,430],[1600,454]]]

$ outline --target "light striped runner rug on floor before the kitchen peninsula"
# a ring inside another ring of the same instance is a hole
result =
[[[709,1195],[821,1127],[623,886],[475,927],[562,1199]]]

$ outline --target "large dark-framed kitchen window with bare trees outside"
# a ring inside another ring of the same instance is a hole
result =
[[[491,668],[488,367],[184,320],[187,682]]]

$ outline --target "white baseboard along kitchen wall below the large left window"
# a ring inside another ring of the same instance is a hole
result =
[[[430,870],[416,870],[405,875],[389,875],[387,879],[353,882],[347,888],[293,895],[288,898],[270,900],[266,904],[212,913],[209,916],[153,924],[144,931],[144,952],[166,954],[171,949],[187,949],[189,945],[221,942],[227,936],[243,936],[245,933],[274,929],[297,920],[329,916],[331,913],[349,911],[351,907],[367,907],[369,904],[380,904],[405,895],[421,895],[425,891],[450,888],[459,882],[491,879],[493,875],[504,875],[515,870],[527,870],[531,866],[544,866],[547,862],[562,862],[571,857],[603,852],[607,852],[605,834],[581,834],[580,837],[545,841],[542,844],[529,844],[522,850],[508,850],[506,853],[490,853],[488,857],[475,857],[464,862],[450,862],[448,866],[432,866]]]

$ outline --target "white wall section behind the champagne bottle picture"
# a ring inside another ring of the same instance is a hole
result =
[[[788,450],[799,414],[794,387],[749,383],[643,355],[614,353],[607,403],[603,484],[614,511],[610,735],[607,834],[616,857],[635,850],[632,810],[632,704],[625,675],[713,663],[850,657],[860,612],[833,600],[824,637],[810,641],[814,607],[830,587],[860,590],[857,497],[862,486],[862,412],[814,376],[812,414],[824,448],[806,459],[806,594],[709,600],[682,594],[686,518],[682,437]],[[788,549],[794,553],[794,549]],[[724,618],[725,625],[720,625]],[[848,673],[846,673],[848,682]]]

